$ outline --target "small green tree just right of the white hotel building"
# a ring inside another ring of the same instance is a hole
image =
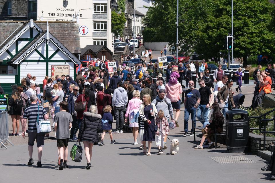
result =
[[[112,32],[115,36],[123,34],[125,22],[126,18],[124,13],[117,14],[115,11],[112,11]]]

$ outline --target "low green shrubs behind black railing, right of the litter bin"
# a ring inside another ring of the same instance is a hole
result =
[[[248,116],[260,116],[260,115],[262,115],[262,114],[264,114],[264,113],[266,113],[266,112],[268,112],[268,111],[271,111],[271,110],[273,110],[273,108],[266,108],[266,109],[263,109],[263,108],[261,108],[261,107],[257,107],[256,109],[250,109],[249,111],[248,111]],[[268,114],[268,115],[266,115],[266,119],[273,119],[273,117],[274,116],[272,116],[272,113],[270,113],[270,114]],[[260,119],[250,119],[250,123],[249,123],[249,125],[250,125],[250,128],[259,128],[259,120]],[[263,124],[263,123],[262,123]],[[273,121],[270,121],[270,122],[268,122],[268,123],[266,123],[267,125],[266,125],[266,131],[274,131],[274,129],[273,129],[273,127],[274,127],[274,125],[273,125]],[[263,127],[263,125],[262,125],[262,127]],[[250,132],[252,132],[252,133],[255,133],[255,134],[261,134],[260,133],[260,130],[250,130]],[[261,134],[262,135],[262,134]],[[267,137],[275,137],[274,135],[273,135],[273,133],[266,133],[266,136]]]

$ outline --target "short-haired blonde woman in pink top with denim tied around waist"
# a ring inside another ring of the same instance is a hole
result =
[[[137,145],[137,135],[138,135],[138,123],[137,118],[139,117],[138,110],[140,108],[140,104],[142,104],[142,100],[140,100],[140,91],[133,91],[133,99],[129,100],[128,107],[125,113],[125,123],[127,122],[127,118],[129,117],[129,126],[133,127],[133,137],[134,137],[134,145]],[[138,114],[137,114],[138,113]]]

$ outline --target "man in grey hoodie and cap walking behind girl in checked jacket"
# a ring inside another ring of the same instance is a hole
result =
[[[160,89],[160,91],[158,92],[158,96],[152,101],[152,103],[156,105],[157,111],[162,110],[164,112],[164,116],[168,119],[168,122],[171,116],[172,122],[175,123],[171,101],[165,96],[165,91],[163,89]],[[163,149],[167,149],[166,139],[167,136],[165,135]]]

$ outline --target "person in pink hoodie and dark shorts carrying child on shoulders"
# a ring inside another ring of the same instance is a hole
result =
[[[170,80],[165,85],[165,93],[167,93],[166,97],[171,100],[171,104],[174,109],[176,109],[176,127],[178,127],[178,117],[180,116],[180,94],[182,93],[182,88],[180,83],[178,82],[178,78],[180,77],[180,74],[178,74],[177,71],[172,70],[172,73],[170,75]]]

